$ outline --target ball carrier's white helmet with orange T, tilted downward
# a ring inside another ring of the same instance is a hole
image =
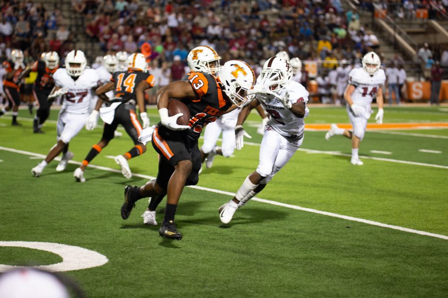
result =
[[[240,60],[227,61],[221,68],[218,78],[221,81],[221,88],[232,103],[241,107],[250,102],[247,91],[255,82],[255,74],[247,63]]]

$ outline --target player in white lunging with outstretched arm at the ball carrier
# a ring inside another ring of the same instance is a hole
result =
[[[243,147],[243,137],[248,136],[242,124],[251,109],[261,104],[270,117],[264,128],[257,169],[246,177],[235,197],[219,209],[224,224],[229,223],[236,210],[258,194],[299,149],[304,136],[304,118],[310,113],[306,106],[308,91],[292,80],[288,60],[268,59],[253,89],[257,92],[255,99],[238,116],[236,149]]]

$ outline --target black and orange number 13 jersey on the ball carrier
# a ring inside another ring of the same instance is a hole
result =
[[[204,127],[215,122],[232,105],[224,95],[219,79],[212,74],[190,72],[188,82],[196,94],[195,99],[182,98],[190,110],[190,129],[186,130],[191,139],[199,139]]]

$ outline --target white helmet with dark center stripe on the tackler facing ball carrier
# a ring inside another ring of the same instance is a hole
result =
[[[279,57],[269,58],[263,65],[259,81],[268,82],[272,91],[278,92],[286,88],[292,80],[292,67],[288,60]]]

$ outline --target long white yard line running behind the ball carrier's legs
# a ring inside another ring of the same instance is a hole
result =
[[[20,154],[24,154],[24,155],[45,157],[45,155],[43,155],[43,154],[29,152],[29,151],[23,151],[23,150],[17,150],[17,149],[12,149],[12,148],[6,148],[6,147],[1,147],[1,146],[0,146],[0,150],[14,152],[14,153],[20,153]],[[81,164],[80,162],[75,162],[75,161],[71,161],[71,160],[69,161],[69,163]],[[89,164],[88,166],[92,167],[92,168],[100,169],[100,170],[105,170],[105,171],[110,171],[110,172],[121,174],[120,170],[112,169],[109,167],[91,165],[91,164]],[[148,175],[142,175],[142,174],[133,174],[133,176],[140,177],[140,178],[146,178],[146,179],[155,179],[155,177],[148,176]],[[217,193],[217,194],[222,194],[222,195],[228,195],[228,196],[232,196],[232,197],[235,196],[235,193],[232,193],[232,192],[203,187],[203,186],[191,185],[191,186],[187,186],[187,187],[193,188],[193,189],[198,189],[198,190],[204,190],[204,191],[208,191],[208,192],[213,192],[213,193]],[[265,199],[256,198],[256,197],[252,198],[252,201],[257,201],[257,202],[261,202],[261,203],[266,203],[266,204],[271,204],[271,205],[276,205],[276,206],[280,206],[280,207],[286,207],[286,208],[290,208],[290,209],[311,212],[311,213],[316,213],[316,214],[321,214],[321,215],[326,215],[326,216],[331,216],[331,217],[335,217],[335,218],[339,218],[339,219],[344,219],[347,221],[359,222],[359,223],[370,224],[370,225],[377,225],[377,226],[387,227],[387,228],[405,231],[405,232],[409,232],[409,233],[431,236],[431,237],[448,240],[448,236],[446,236],[446,235],[430,233],[430,232],[416,230],[416,229],[407,228],[407,227],[401,227],[398,225],[383,224],[383,223],[378,223],[378,222],[374,222],[374,221],[358,219],[358,218],[354,218],[351,216],[345,216],[345,215],[340,215],[340,214],[326,212],[326,211],[320,211],[320,210],[311,209],[311,208],[304,208],[304,207],[300,207],[300,206],[296,206],[296,205],[290,205],[290,204],[280,203],[280,202],[271,201],[271,200],[265,200]]]

